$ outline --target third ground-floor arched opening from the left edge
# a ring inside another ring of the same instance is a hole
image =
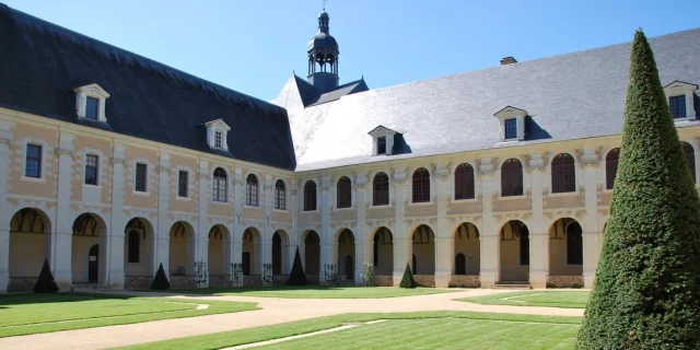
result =
[[[148,220],[133,218],[124,229],[124,278],[126,289],[144,289],[153,280],[153,230]]]

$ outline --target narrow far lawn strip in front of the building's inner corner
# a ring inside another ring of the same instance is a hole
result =
[[[281,285],[254,288],[212,288],[173,290],[171,293],[236,295],[289,299],[381,299],[396,296],[427,295],[448,293],[459,290],[442,290],[434,288],[394,288],[394,287],[323,287],[323,285]]]

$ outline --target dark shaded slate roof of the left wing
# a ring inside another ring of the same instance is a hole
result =
[[[108,125],[79,120],[73,89],[97,83],[112,96]],[[0,106],[196,151],[293,170],[287,112],[0,3]],[[223,119],[229,152],[207,145],[207,121]]]

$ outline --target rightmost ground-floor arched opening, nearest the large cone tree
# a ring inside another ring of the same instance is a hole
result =
[[[583,285],[583,230],[571,218],[549,228],[549,277],[555,287]]]

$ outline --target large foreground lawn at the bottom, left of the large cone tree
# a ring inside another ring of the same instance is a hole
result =
[[[345,314],[287,324],[150,342],[120,349],[221,349],[339,327],[388,319],[374,325],[284,341],[271,349],[571,349],[580,317],[427,312]],[[334,345],[334,346],[330,346]],[[256,348],[257,349],[257,348]]]

